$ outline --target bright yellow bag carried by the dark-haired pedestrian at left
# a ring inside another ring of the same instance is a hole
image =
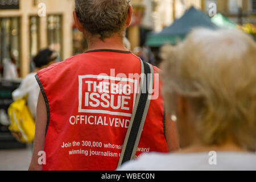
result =
[[[35,137],[35,121],[27,106],[27,96],[13,102],[8,108],[9,130],[22,143],[32,143]]]

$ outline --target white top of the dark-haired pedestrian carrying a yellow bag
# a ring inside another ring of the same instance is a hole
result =
[[[30,73],[21,82],[18,89],[13,92],[13,100],[19,100],[28,94],[27,105],[31,111],[31,114],[36,118],[36,106],[38,104],[38,95],[40,88],[35,78],[36,73]]]

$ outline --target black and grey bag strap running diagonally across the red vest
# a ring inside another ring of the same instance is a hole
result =
[[[123,143],[118,167],[123,163],[134,159],[141,138],[148,107],[150,105],[152,86],[154,84],[154,69],[152,65],[141,60],[141,81],[136,97],[133,114],[127,129],[125,142]],[[149,78],[148,78],[149,77]]]

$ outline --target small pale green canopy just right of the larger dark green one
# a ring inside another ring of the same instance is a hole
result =
[[[238,24],[234,23],[232,20],[226,18],[226,16],[218,13],[211,18],[212,22],[217,26],[222,28],[236,28]]]

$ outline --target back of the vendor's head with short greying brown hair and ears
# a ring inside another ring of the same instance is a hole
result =
[[[131,20],[130,0],[76,0],[74,18],[80,31],[101,40],[125,35]],[[81,27],[79,27],[81,26]]]

